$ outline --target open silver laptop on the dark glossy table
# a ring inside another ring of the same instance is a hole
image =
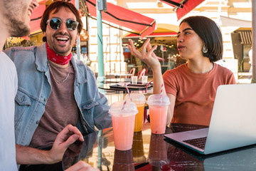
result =
[[[219,86],[209,128],[164,137],[205,155],[256,144],[256,84]]]

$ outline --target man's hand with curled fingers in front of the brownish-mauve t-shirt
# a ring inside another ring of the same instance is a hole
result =
[[[52,149],[49,151],[49,159],[52,163],[59,162],[63,159],[65,150],[68,146],[73,144],[76,140],[84,141],[82,133],[78,128],[73,125],[66,126],[60,133],[53,143]]]

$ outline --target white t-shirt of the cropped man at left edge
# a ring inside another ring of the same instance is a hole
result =
[[[14,98],[17,75],[14,63],[0,53],[0,166],[1,170],[17,170],[14,136]]]

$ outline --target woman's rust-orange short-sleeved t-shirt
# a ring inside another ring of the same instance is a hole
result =
[[[172,123],[209,125],[220,85],[235,84],[233,73],[216,63],[208,73],[193,73],[183,64],[164,73],[166,93],[176,96]]]

